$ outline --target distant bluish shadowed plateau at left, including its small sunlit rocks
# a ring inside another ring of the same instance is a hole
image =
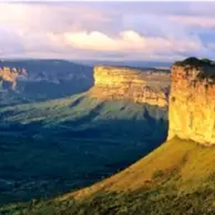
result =
[[[72,95],[93,84],[92,68],[64,60],[1,60],[1,105]]]

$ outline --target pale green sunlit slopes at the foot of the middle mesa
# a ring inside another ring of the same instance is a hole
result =
[[[0,114],[9,113],[7,120],[21,123],[30,121],[45,121],[59,123],[65,120],[75,120],[80,115],[90,113],[93,109],[100,108],[100,116],[113,120],[131,119],[139,120],[143,115],[145,104],[133,103],[130,101],[102,101],[96,98],[88,96],[88,93],[76,94],[66,99],[51,100],[47,102],[38,102],[33,104],[21,104],[8,106],[0,110]],[[155,109],[152,109],[154,111]],[[94,110],[96,111],[96,110]],[[98,110],[99,112],[100,110]],[[149,110],[150,111],[150,110]],[[156,114],[154,114],[156,116]],[[2,115],[3,117],[3,115]]]

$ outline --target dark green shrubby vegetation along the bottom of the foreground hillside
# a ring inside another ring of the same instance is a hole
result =
[[[178,195],[175,191],[156,187],[132,193],[100,192],[82,202],[66,199],[60,203],[16,205],[2,208],[1,213],[16,215],[214,215],[215,211],[212,206],[214,197],[214,192],[209,190]]]

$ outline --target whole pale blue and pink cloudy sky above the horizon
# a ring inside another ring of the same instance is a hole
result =
[[[0,2],[0,58],[215,60],[215,2]]]

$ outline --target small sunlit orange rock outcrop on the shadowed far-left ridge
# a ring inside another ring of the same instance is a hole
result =
[[[16,88],[20,75],[27,75],[27,71],[24,69],[0,68],[0,81],[9,83],[11,89]]]

